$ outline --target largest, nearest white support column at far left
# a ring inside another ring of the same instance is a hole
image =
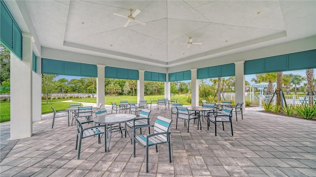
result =
[[[11,140],[31,137],[32,119],[32,36],[22,35],[22,60],[10,55],[10,132]]]

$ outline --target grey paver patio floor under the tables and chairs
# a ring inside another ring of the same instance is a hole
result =
[[[66,118],[36,121],[33,136],[11,141],[12,150],[0,163],[1,177],[315,177],[316,121],[288,118],[246,108],[243,119],[233,117],[225,131],[218,125],[202,130],[196,124],[190,133],[184,122],[171,125],[171,157],[168,146],[149,150],[149,173],[146,174],[146,149],[136,147],[129,138],[116,134],[110,152],[104,152],[104,139],[83,139],[80,160],[75,150],[76,127],[67,126]],[[110,110],[110,108],[109,108]],[[157,116],[170,118],[170,110],[152,109],[151,124]],[[151,130],[152,131],[152,130]],[[148,133],[146,130],[145,134]]]

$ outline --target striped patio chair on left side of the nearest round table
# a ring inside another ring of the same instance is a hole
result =
[[[89,126],[86,128],[83,128],[83,124],[91,123],[93,121],[85,121],[85,122],[80,122],[78,118],[75,118],[77,121],[77,139],[76,139],[76,150],[78,148],[78,159],[80,159],[80,150],[81,150],[81,141],[84,138],[88,138],[91,136],[98,135],[98,143],[101,143],[101,136],[104,134],[104,125],[95,125],[95,126]],[[79,142],[78,142],[79,140]],[[78,145],[79,144],[79,145]]]

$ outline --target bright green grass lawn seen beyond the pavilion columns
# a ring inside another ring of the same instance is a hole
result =
[[[145,96],[145,100],[150,104],[150,98],[153,100],[162,99],[164,95],[149,95]],[[184,105],[191,105],[187,102],[186,95],[175,95],[171,97],[171,100],[178,98],[178,103],[182,103]],[[42,100],[41,102],[41,114],[52,113],[53,110],[51,107],[53,106],[56,111],[65,110],[66,108],[70,108],[70,103],[63,103],[60,101],[64,100],[75,100],[78,102],[89,102],[96,103],[96,98],[72,98],[72,99],[53,99],[48,100],[48,104],[46,104],[46,100]],[[119,104],[119,100],[127,100],[129,103],[136,103],[137,96],[106,96],[105,104],[111,105],[111,102],[116,102]],[[0,101],[0,122],[9,121],[10,120],[10,102]]]

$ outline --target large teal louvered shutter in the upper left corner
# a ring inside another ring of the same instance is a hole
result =
[[[0,41],[22,60],[22,31],[3,0],[0,0]]]

